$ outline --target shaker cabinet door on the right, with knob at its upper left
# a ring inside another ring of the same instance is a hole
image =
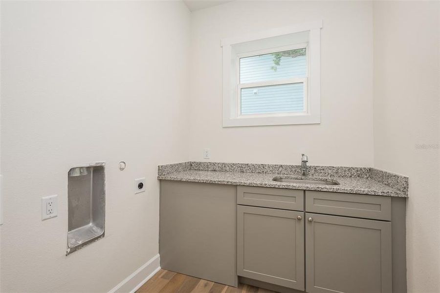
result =
[[[309,293],[391,293],[391,223],[306,213]]]

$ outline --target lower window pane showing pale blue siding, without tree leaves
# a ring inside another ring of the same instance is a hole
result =
[[[242,88],[242,114],[304,112],[304,84]]]

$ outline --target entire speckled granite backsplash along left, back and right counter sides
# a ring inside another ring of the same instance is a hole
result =
[[[159,165],[157,167],[157,176],[167,176],[172,173],[188,170],[301,175],[301,166],[299,165],[182,162]],[[403,195],[408,195],[408,177],[373,167],[308,166],[308,177],[370,178],[390,188],[399,190]],[[243,185],[248,184],[243,182]],[[253,185],[258,186],[256,183],[253,183]]]

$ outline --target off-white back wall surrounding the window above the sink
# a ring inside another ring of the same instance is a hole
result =
[[[373,166],[373,17],[369,1],[233,1],[191,16],[190,159]],[[323,20],[321,124],[221,127],[220,39]]]

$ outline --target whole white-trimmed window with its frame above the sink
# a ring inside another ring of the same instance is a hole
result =
[[[222,40],[224,127],[320,123],[321,27]]]

